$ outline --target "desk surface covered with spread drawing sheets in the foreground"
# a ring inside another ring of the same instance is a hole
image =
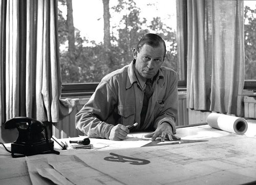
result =
[[[204,142],[176,145],[166,142],[166,145],[141,147],[143,142],[150,143],[138,139],[143,133],[119,142],[92,138],[92,150],[27,157],[30,174],[25,157],[11,158],[0,147],[0,184],[29,184],[30,179],[33,182],[36,179],[31,178],[31,174],[35,177],[46,169],[51,172],[55,169],[76,184],[244,184],[256,181],[256,138],[252,137],[255,134],[237,135],[203,125],[178,128],[177,135],[182,140]],[[42,160],[45,165],[38,163]],[[37,166],[37,171],[31,166]]]

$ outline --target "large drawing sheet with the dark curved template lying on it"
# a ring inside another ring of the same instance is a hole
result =
[[[256,180],[254,146],[254,138],[229,134],[203,143],[67,153],[83,161],[84,182],[242,184]],[[79,172],[72,170],[65,171]]]

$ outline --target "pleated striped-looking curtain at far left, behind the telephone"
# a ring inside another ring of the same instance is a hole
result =
[[[1,6],[1,123],[18,116],[58,122],[76,100],[60,100],[57,1],[4,0]]]

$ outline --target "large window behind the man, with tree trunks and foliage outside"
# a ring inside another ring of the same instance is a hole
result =
[[[133,60],[132,49],[146,33],[163,37],[167,49],[164,65],[177,73],[181,70],[176,1],[58,0],[58,9],[63,84],[100,82]]]

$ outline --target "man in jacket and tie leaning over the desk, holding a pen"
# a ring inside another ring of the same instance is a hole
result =
[[[143,36],[134,60],[101,80],[86,105],[76,114],[76,128],[89,137],[124,140],[127,126],[134,131],[154,131],[152,141],[161,136],[179,139],[175,121],[178,114],[178,77],[161,66],[166,47],[156,34]]]

